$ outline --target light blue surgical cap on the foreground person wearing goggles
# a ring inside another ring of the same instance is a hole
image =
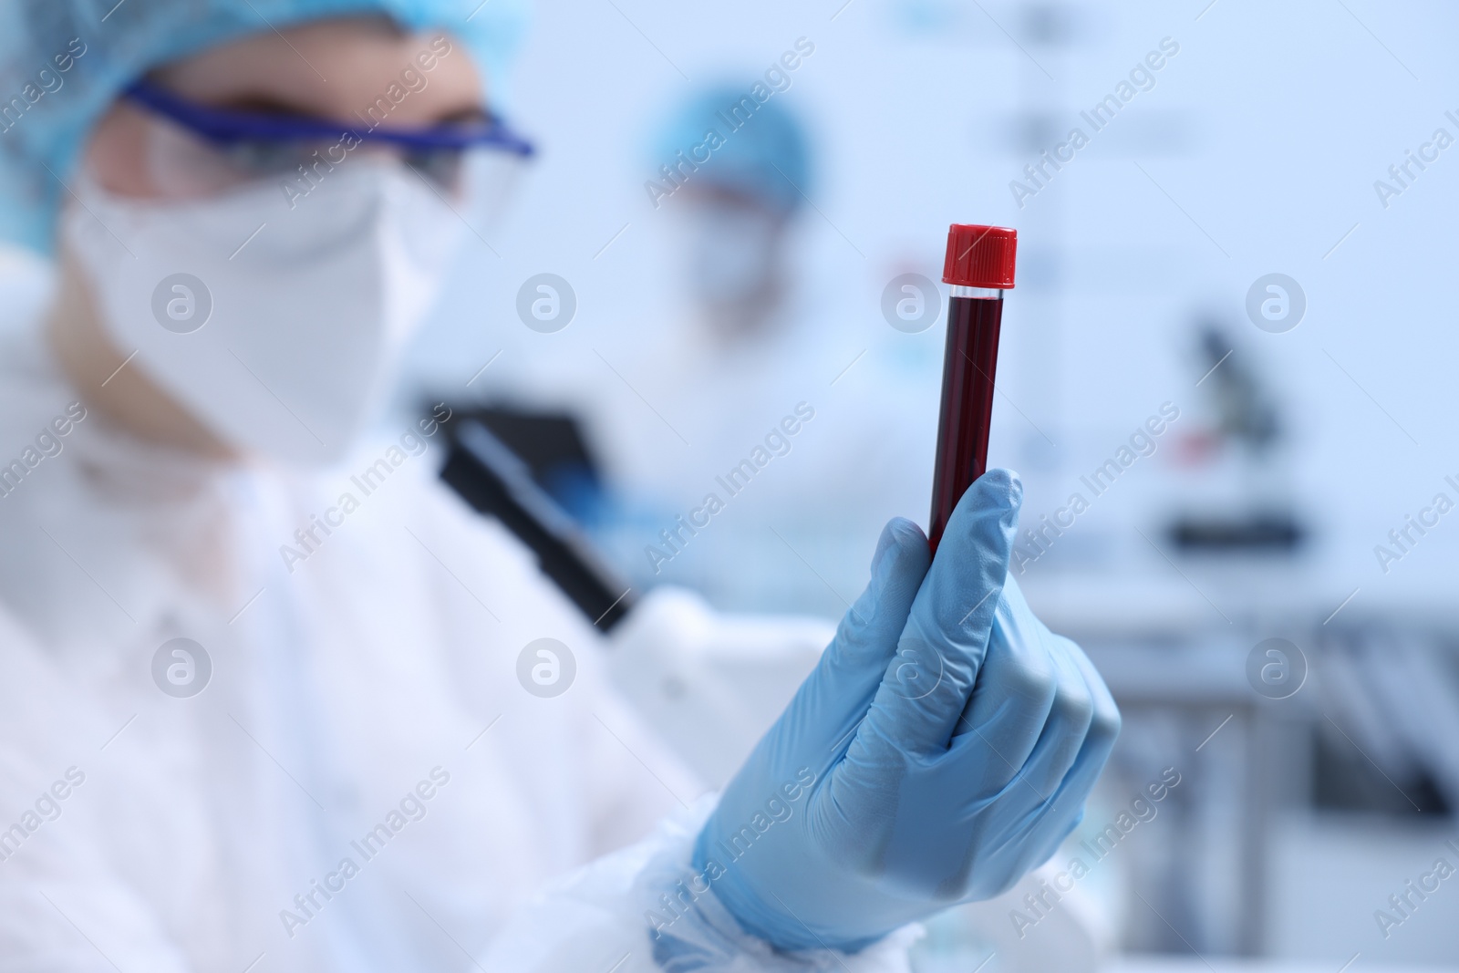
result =
[[[0,241],[48,252],[90,127],[159,64],[248,34],[385,15],[465,42],[493,85],[525,0],[0,0]]]

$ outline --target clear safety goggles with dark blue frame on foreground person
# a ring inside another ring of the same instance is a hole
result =
[[[360,124],[308,115],[214,108],[147,80],[125,96],[165,124],[147,139],[147,168],[165,198],[197,198],[233,187],[277,181],[292,200],[308,195],[336,166],[387,155],[454,201],[500,203],[535,147],[500,118],[477,117],[420,128],[388,127],[374,111]]]

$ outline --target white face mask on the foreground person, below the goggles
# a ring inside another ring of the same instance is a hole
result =
[[[63,239],[125,368],[223,442],[289,464],[353,443],[463,239],[398,165],[330,172],[293,209],[271,182],[209,200],[76,187]]]

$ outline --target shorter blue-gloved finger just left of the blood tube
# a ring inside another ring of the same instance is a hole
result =
[[[899,516],[883,528],[871,582],[781,716],[788,740],[823,750],[826,764],[840,756],[867,715],[929,560],[926,537],[916,524]]]

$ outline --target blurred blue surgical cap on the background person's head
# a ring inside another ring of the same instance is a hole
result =
[[[659,165],[667,163],[671,171],[680,166],[683,172],[677,153],[702,156],[703,150],[694,149],[705,146],[706,133],[716,131],[724,143],[689,181],[731,190],[789,213],[804,200],[801,194],[811,191],[805,130],[781,104],[783,95],[772,93],[760,102],[751,90],[727,85],[692,98],[659,133],[655,156]]]

